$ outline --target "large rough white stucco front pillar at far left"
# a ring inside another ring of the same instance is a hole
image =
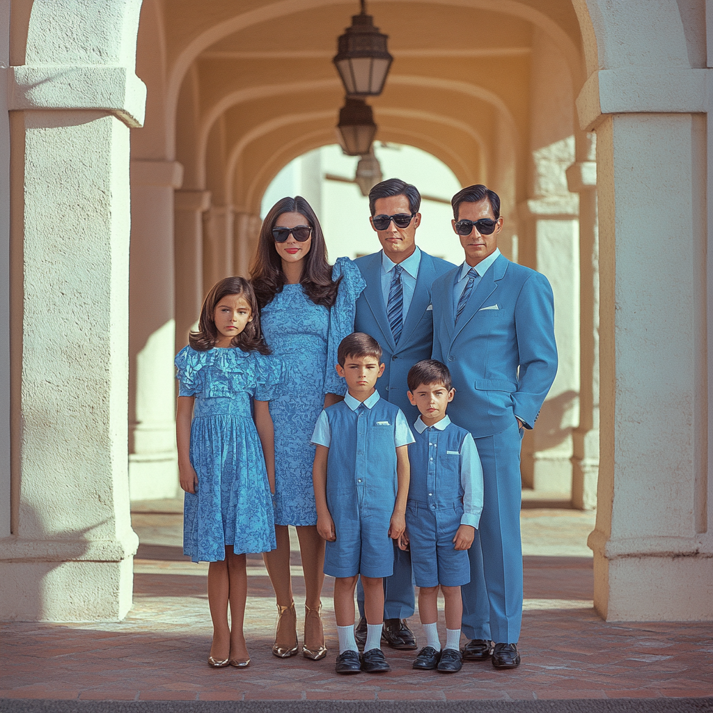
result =
[[[37,7],[41,27],[54,9]],[[84,27],[82,11],[58,28]],[[2,620],[119,620],[131,606],[129,126],[144,102],[128,68],[11,68],[14,456]]]

